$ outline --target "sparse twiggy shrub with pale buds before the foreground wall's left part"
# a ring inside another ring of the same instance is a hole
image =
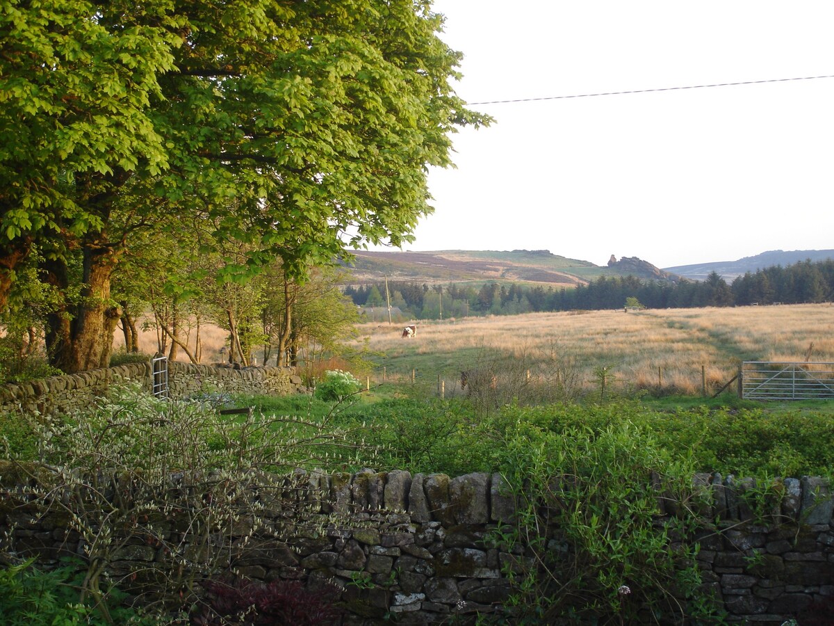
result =
[[[206,403],[161,401],[136,386],[113,388],[98,406],[72,419],[43,417],[32,427],[38,457],[48,465],[16,457],[20,487],[2,496],[41,517],[66,519],[78,533],[85,568],[81,599],[89,598],[106,619],[112,617],[108,576],[123,578],[138,603],[175,612],[194,603],[199,581],[234,567],[233,545],[258,533],[280,536],[286,529],[264,518],[264,498],[286,512],[305,505],[294,498],[291,477],[276,472],[320,467],[325,457],[334,462],[343,451],[352,462],[372,462],[362,457],[364,447],[352,433],[324,421],[261,415],[233,420]],[[172,534],[172,526],[184,530]],[[120,554],[136,544],[159,556],[132,582]]]

